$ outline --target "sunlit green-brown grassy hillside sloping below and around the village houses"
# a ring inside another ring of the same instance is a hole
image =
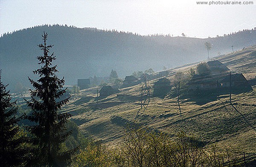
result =
[[[226,64],[232,72],[242,72],[247,78],[255,78],[256,58],[250,55],[255,50],[256,46],[251,46],[214,59]],[[170,71],[174,75],[194,66],[196,64]],[[151,86],[154,82],[150,82]],[[151,97],[148,107],[138,112],[140,85],[121,89],[120,93],[99,101],[95,100],[95,96],[96,88],[85,89],[78,98],[70,101],[64,111],[73,114],[72,119],[85,135],[106,144],[115,146],[122,142],[124,128],[132,124],[173,136],[184,131],[198,136],[208,146],[216,144],[219,148],[228,146],[248,154],[256,153],[256,132],[250,127],[256,128],[256,86],[253,91],[232,95],[233,106],[242,115],[229,104],[228,95],[221,95],[220,100],[217,97],[204,97],[209,99],[200,105],[195,99],[183,96],[181,113],[177,97],[168,95],[165,98]]]

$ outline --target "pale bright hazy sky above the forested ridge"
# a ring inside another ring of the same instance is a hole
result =
[[[256,0],[248,0],[253,5],[197,5],[196,1],[0,0],[0,34],[57,23],[189,37],[215,37],[256,27]]]

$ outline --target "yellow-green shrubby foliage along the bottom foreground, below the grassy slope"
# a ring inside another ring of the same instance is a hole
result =
[[[239,165],[237,160],[233,149],[225,148],[221,152],[215,145],[206,149],[204,142],[184,132],[179,132],[174,139],[165,133],[131,128],[126,130],[118,148],[88,141],[73,158],[72,166],[223,167]]]

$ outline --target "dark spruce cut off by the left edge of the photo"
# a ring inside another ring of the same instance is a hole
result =
[[[28,152],[24,147],[26,137],[17,124],[21,117],[16,118],[17,107],[6,87],[0,70],[0,167],[24,165]]]

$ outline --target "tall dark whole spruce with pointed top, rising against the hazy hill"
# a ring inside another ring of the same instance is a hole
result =
[[[33,162],[52,167],[69,158],[70,152],[60,153],[60,147],[71,133],[67,132],[65,127],[71,115],[60,112],[69,98],[63,98],[66,92],[66,89],[63,89],[65,81],[55,75],[58,72],[57,65],[53,66],[52,61],[56,57],[54,53],[49,54],[53,45],[47,45],[47,36],[44,32],[44,43],[38,45],[44,55],[37,57],[41,68],[33,71],[35,75],[39,75],[38,81],[29,78],[35,89],[30,90],[31,100],[27,101],[27,104],[33,110],[28,119],[35,123],[29,130],[35,136],[34,141],[38,146]]]

